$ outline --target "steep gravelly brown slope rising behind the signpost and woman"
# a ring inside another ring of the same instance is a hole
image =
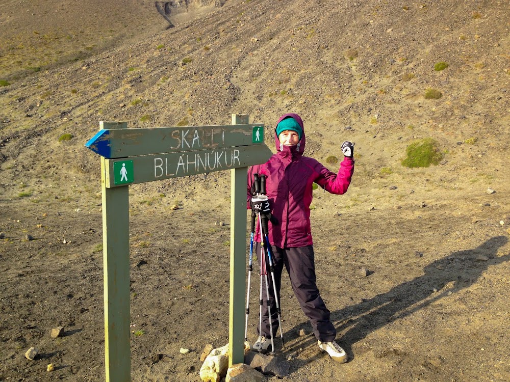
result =
[[[100,120],[223,124],[232,113],[272,127],[297,112],[309,155],[338,155],[353,140],[367,179],[403,171],[415,138],[439,141],[451,175],[505,162],[504,2],[159,3],[3,3],[2,183],[30,183],[27,168],[94,178],[83,144]],[[426,99],[428,89],[441,98]],[[59,143],[64,133],[73,138]]]

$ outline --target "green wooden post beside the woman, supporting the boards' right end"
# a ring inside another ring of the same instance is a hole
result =
[[[232,115],[232,124],[248,123],[247,115]],[[244,363],[246,298],[246,187],[248,168],[231,170],[230,212],[230,320],[228,366]]]

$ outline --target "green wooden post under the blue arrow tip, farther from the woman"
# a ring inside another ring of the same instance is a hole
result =
[[[127,128],[127,123],[100,122],[100,128]],[[129,382],[131,380],[129,186],[107,188],[106,170],[105,158],[101,157],[106,381]]]

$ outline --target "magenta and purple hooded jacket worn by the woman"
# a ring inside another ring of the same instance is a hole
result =
[[[338,174],[335,174],[314,158],[303,156],[306,141],[303,121],[297,114],[291,113],[280,117],[276,125],[286,117],[294,118],[301,126],[301,140],[296,146],[284,146],[275,132],[277,153],[263,165],[255,165],[248,170],[248,208],[253,174],[266,175],[266,194],[271,203],[271,213],[278,221],[277,225],[269,223],[269,242],[279,248],[305,247],[313,244],[310,227],[313,183],[331,194],[345,194],[354,172],[354,160],[345,157]],[[260,241],[258,231],[257,225],[254,239]]]

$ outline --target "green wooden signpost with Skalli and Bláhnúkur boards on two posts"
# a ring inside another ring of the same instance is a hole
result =
[[[233,115],[232,125],[128,129],[100,122],[85,147],[101,156],[105,361],[107,382],[131,380],[130,184],[231,170],[229,364],[244,362],[248,166],[264,163],[264,125]]]

